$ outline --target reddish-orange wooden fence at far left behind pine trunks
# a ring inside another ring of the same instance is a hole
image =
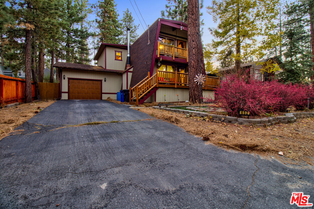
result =
[[[24,102],[25,79],[0,75],[0,97],[4,104]],[[35,85],[32,82],[32,100],[35,99]]]

